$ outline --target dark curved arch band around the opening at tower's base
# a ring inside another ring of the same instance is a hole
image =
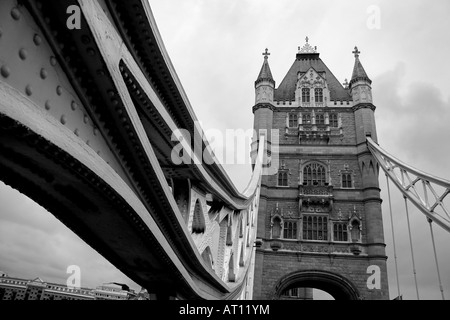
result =
[[[286,290],[305,287],[316,288],[329,293],[335,300],[360,300],[355,285],[347,278],[329,271],[303,270],[282,277],[274,288],[272,299],[278,300]]]

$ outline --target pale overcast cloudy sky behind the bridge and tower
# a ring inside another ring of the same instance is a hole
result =
[[[150,4],[206,131],[253,127],[254,81],[265,48],[271,53],[269,63],[278,86],[306,36],[341,82],[350,80],[356,45],[373,80],[380,145],[408,164],[450,180],[449,1],[152,0]],[[225,168],[242,190],[250,168]],[[392,299],[397,285],[384,175],[380,182]],[[403,199],[395,191],[392,196],[401,294],[416,299]],[[65,283],[66,268],[74,264],[81,267],[82,286],[122,281],[139,288],[51,214],[2,183],[0,203],[0,270]],[[440,299],[428,224],[418,210],[409,208],[421,299]],[[441,279],[450,299],[446,247],[450,235],[438,226],[434,232]]]

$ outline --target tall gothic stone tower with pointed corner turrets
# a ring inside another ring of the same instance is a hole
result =
[[[263,54],[254,128],[278,129],[280,153],[261,186],[255,299],[311,298],[311,288],[389,299],[378,168],[366,146],[367,136],[377,141],[372,81],[353,53],[343,86],[307,38],[277,89]]]

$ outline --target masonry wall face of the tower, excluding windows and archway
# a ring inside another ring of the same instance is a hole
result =
[[[261,206],[258,216],[258,238],[262,245],[257,249],[255,266],[254,299],[277,299],[275,288],[281,279],[289,274],[308,270],[323,270],[339,275],[350,281],[360,298],[367,300],[389,299],[387,269],[384,245],[377,242],[376,250],[368,241],[375,239],[372,235],[380,234],[382,225],[372,230],[368,237],[367,222],[378,225],[381,206],[375,204],[379,192],[371,189],[367,193],[368,181],[378,180],[376,170],[363,172],[361,167],[361,148],[357,148],[357,117],[351,108],[333,108],[329,112],[339,114],[339,128],[331,131],[328,141],[300,141],[298,130],[289,128],[286,132],[286,117],[289,112],[298,109],[288,108],[273,112],[273,128],[280,130],[280,166],[288,172],[288,186],[278,186],[278,174],[266,176],[262,182]],[[372,126],[372,125],[371,125]],[[373,127],[373,126],[372,126]],[[363,157],[367,158],[366,155]],[[299,186],[303,166],[310,162],[320,162],[327,168],[327,181],[332,187],[333,201],[328,212],[328,239],[326,241],[306,241],[302,239],[302,213],[299,205]],[[366,160],[364,160],[366,161]],[[352,175],[352,187],[343,188],[342,173]],[[373,184],[376,186],[376,183]],[[370,198],[370,200],[369,200]],[[381,200],[379,201],[381,203]],[[360,241],[356,244],[332,241],[333,223],[343,217],[344,221],[356,212],[361,219]],[[282,221],[298,221],[298,238],[272,238],[273,217],[278,214]],[[370,217],[366,217],[370,214]],[[377,219],[376,223],[372,223]],[[357,247],[357,253],[353,250]],[[369,289],[367,282],[372,275],[368,270],[377,266],[380,270],[381,288]]]

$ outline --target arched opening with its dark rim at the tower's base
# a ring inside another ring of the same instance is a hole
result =
[[[313,290],[316,289],[316,290]],[[275,286],[274,299],[359,300],[358,289],[345,277],[321,270],[297,271],[281,278]]]

